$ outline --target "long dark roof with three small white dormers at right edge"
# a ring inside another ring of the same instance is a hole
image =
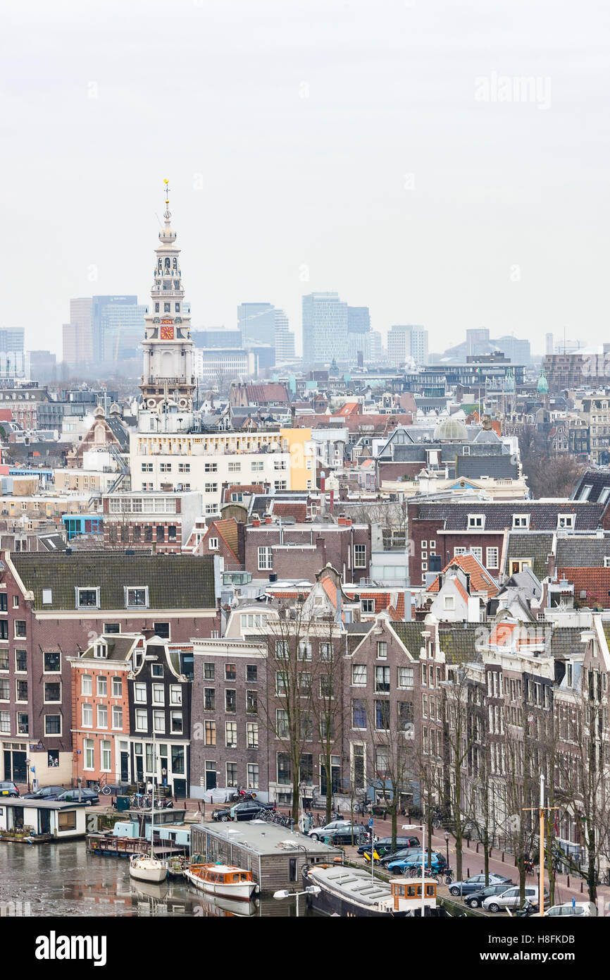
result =
[[[530,530],[550,531],[557,528],[558,515],[575,514],[577,530],[595,530],[599,525],[605,505],[578,503],[543,503],[537,501],[514,501],[513,503],[481,503],[472,501],[446,504],[419,504],[417,517],[420,520],[446,521],[446,530],[468,530],[469,514],[484,514],[485,530],[503,531],[512,527],[513,514],[530,515]]]

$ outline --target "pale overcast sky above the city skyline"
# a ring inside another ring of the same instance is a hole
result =
[[[70,297],[148,302],[169,177],[195,327],[269,301],[300,343],[301,296],[337,290],[432,351],[471,326],[610,340],[609,22],[592,0],[14,4],[0,325],[59,356]]]

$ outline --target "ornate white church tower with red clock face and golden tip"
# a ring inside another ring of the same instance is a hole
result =
[[[191,316],[184,302],[180,249],[171,227],[169,188],[164,181],[164,229],[155,249],[156,265],[151,305],[145,319],[144,372],[139,427],[169,431],[182,429],[192,419],[195,390],[194,344]],[[188,418],[187,418],[188,417]]]

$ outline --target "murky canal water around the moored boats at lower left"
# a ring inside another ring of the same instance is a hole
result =
[[[305,898],[305,897],[304,897]],[[300,900],[300,915],[312,915]],[[10,904],[14,903],[14,906]],[[182,878],[166,884],[135,882],[125,858],[90,854],[84,841],[0,846],[0,914],[289,916],[294,899],[264,896],[257,903],[212,900]]]

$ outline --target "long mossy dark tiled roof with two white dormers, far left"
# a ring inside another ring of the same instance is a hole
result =
[[[11,560],[26,589],[34,594],[36,610],[74,610],[76,588],[99,588],[101,610],[125,609],[124,586],[149,590],[149,609],[215,607],[213,557],[193,555],[47,555],[15,553]],[[51,590],[51,603],[42,590]],[[95,611],[92,609],[92,613]],[[83,613],[86,615],[86,611]]]

